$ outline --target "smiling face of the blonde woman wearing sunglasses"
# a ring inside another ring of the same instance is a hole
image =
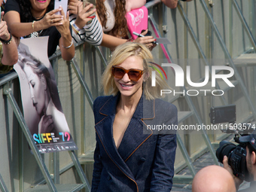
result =
[[[121,64],[117,65],[123,69],[139,69],[143,70],[143,60],[139,56],[129,56]],[[143,75],[138,81],[131,81],[128,74],[123,75],[123,78],[114,78],[121,96],[139,97],[142,96]]]

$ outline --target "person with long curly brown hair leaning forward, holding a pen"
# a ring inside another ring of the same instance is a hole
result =
[[[136,40],[128,38],[128,28],[126,25],[126,1],[125,0],[97,0],[96,11],[98,18],[102,24],[103,38],[102,46],[108,47],[114,50],[120,44],[124,44],[126,41],[135,41],[138,43],[146,44],[149,48],[153,48],[156,44],[153,44],[155,39],[152,36],[146,36],[143,38],[136,38]],[[148,29],[142,32],[142,35],[146,35]]]

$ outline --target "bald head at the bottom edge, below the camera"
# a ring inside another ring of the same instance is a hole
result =
[[[230,173],[221,166],[206,166],[194,177],[192,192],[236,192]]]

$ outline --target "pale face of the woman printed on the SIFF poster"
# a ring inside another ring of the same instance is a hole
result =
[[[26,74],[26,78],[29,83],[30,96],[35,110],[41,116],[45,111],[46,101],[46,82],[44,75],[36,75],[30,66],[25,65],[23,71]]]

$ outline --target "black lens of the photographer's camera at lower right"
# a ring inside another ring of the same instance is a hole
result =
[[[222,141],[220,142],[220,146],[216,151],[216,157],[218,158],[218,161],[222,163],[224,156],[226,155],[229,157],[229,154],[233,149],[236,148],[236,145],[234,145],[232,142]]]

